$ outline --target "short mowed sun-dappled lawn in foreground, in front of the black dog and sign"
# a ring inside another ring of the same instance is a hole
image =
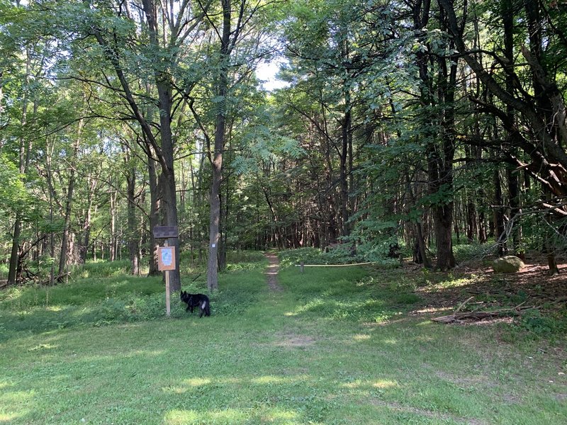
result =
[[[501,372],[493,359],[478,364],[481,353],[446,341],[456,334],[404,334],[406,323],[354,335],[339,327],[331,338],[295,326],[223,332],[222,324],[164,321],[96,329],[89,341],[74,332],[28,340],[19,359],[27,366],[13,365],[0,379],[0,421],[536,424],[566,417],[559,399],[510,375],[514,359]],[[514,399],[518,380],[522,395]]]

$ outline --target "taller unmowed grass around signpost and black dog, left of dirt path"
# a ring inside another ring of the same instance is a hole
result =
[[[220,274],[219,290],[209,294],[213,314],[241,314],[265,290],[262,253],[233,252],[229,261],[228,273]],[[91,261],[74,268],[67,283],[0,291],[0,329],[9,337],[19,331],[38,333],[164,318],[162,276],[129,276],[128,268],[128,261]],[[190,293],[207,293],[205,273],[197,278],[182,273],[181,285]],[[185,308],[179,293],[173,293],[171,317],[189,317]]]

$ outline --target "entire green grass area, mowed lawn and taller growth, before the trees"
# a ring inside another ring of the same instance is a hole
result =
[[[0,423],[567,424],[561,342],[410,314],[396,273],[282,268],[270,292],[266,264],[220,275],[203,319],[161,317],[159,279],[5,293]]]

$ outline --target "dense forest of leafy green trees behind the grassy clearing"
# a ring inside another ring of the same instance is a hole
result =
[[[266,247],[558,272],[566,34],[557,0],[0,0],[4,284],[157,273],[158,225],[210,289]]]

